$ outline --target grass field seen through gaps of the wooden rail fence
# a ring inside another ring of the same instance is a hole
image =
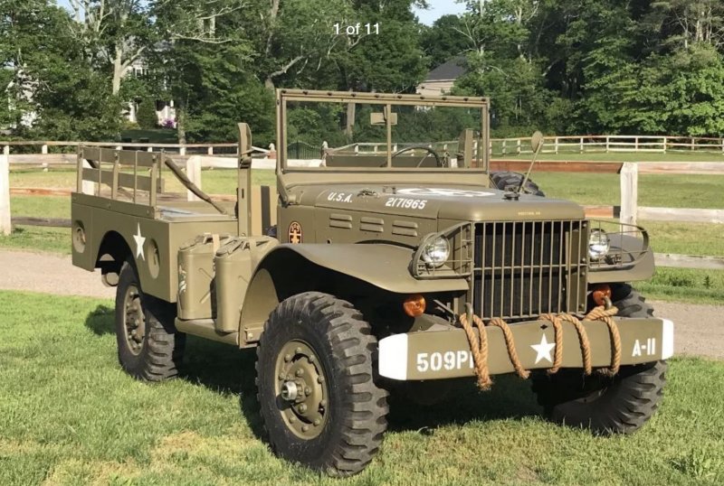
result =
[[[274,185],[272,171],[254,171],[253,183]],[[580,204],[619,203],[616,174],[536,173],[533,180],[548,197],[569,199]],[[19,171],[10,176],[11,187],[65,187],[75,185],[73,171]],[[202,186],[214,194],[232,194],[236,188],[233,170],[209,170],[202,173]],[[168,191],[181,191],[181,184],[169,179]],[[724,176],[639,176],[641,206],[724,209]],[[14,196],[13,213],[19,216],[70,218],[70,203],[63,197]],[[724,255],[724,225],[685,222],[641,221],[649,230],[652,246],[660,253],[685,255]],[[37,248],[70,254],[68,229],[19,227],[10,237],[0,237],[0,248]],[[724,272],[659,268],[650,282],[637,286],[644,294],[666,300],[721,304],[724,302]]]

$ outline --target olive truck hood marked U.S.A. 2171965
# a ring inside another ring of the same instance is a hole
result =
[[[302,204],[341,211],[366,211],[414,218],[461,221],[582,220],[583,208],[571,201],[504,192],[480,186],[420,187],[340,184],[329,189],[305,187]]]

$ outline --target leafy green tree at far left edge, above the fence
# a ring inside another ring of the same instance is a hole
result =
[[[84,56],[72,29],[68,13],[46,1],[0,4],[0,70],[12,73],[11,103],[1,103],[0,113],[15,136],[118,137],[119,100]]]

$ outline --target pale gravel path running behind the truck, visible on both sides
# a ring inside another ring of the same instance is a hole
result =
[[[0,290],[113,298],[115,289],[100,283],[99,272],[71,265],[71,257],[0,249]],[[679,354],[724,360],[724,305],[653,302],[656,315],[676,324]]]

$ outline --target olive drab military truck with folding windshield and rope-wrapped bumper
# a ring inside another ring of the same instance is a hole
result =
[[[81,147],[72,260],[117,287],[122,369],[175,377],[187,334],[255,348],[271,449],[338,476],[377,452],[390,392],[429,403],[465,377],[530,375],[550,419],[638,429],[673,347],[672,322],[629,285],[653,275],[647,233],[491,172],[489,106],[278,90],[278,197],[261,202],[245,124],[235,201],[214,201],[173,155]],[[291,159],[305,131],[337,148]]]

